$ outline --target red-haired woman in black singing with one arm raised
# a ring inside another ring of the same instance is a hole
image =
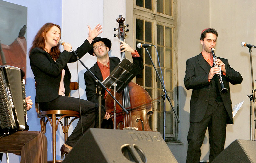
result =
[[[93,30],[90,26],[87,39],[77,48],[79,58],[92,49],[91,42],[102,31],[101,25],[97,25]],[[30,66],[36,81],[36,99],[42,111],[47,110],[73,110],[80,112],[79,99],[68,97],[70,93],[71,73],[67,63],[77,61],[75,55],[70,52],[71,45],[64,43],[64,51],[59,50],[59,40],[61,38],[60,26],[53,23],[46,23],[36,34],[30,53]],[[102,107],[104,117],[105,108]],[[98,104],[81,100],[81,114],[83,131],[90,127],[98,127]],[[106,116],[106,115],[105,115]],[[81,120],[78,121],[72,134],[62,145],[61,157],[68,154],[72,147],[82,136]]]

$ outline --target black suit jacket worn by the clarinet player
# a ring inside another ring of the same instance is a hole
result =
[[[227,59],[219,59],[225,64],[226,75],[222,74],[222,81],[229,90],[226,94],[220,93],[220,96],[228,113],[227,123],[233,124],[229,83],[240,84],[243,78],[239,72],[230,67]],[[200,122],[208,106],[211,82],[208,81],[210,69],[207,64],[202,53],[187,60],[184,84],[187,89],[193,89],[190,100],[190,122]],[[221,90],[219,83],[218,89]]]

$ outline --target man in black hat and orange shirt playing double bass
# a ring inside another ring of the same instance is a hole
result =
[[[136,60],[136,63],[139,63],[139,67],[143,68],[142,58],[140,57],[138,52],[125,42],[120,42],[122,43],[120,45],[120,52],[130,52],[133,60]],[[111,41],[108,38],[96,37],[94,38],[92,45],[93,49],[91,49],[88,53],[97,57],[97,62],[94,64],[93,67],[90,68],[90,70],[100,81],[103,81],[119,64],[120,60],[117,57],[109,57],[108,52],[111,48]],[[87,100],[98,103],[98,96],[96,95],[96,85],[98,85],[98,83],[95,82],[93,76],[88,71],[84,73],[84,80],[86,85],[85,91]],[[102,105],[104,105],[107,93],[105,90],[102,90],[101,94],[104,97],[102,98]],[[105,116],[108,118],[109,115]],[[108,122],[106,122],[106,120],[103,120],[102,128],[113,128],[112,120],[110,119],[108,120]]]

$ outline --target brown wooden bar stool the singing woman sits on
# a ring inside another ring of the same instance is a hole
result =
[[[78,82],[70,83],[70,90],[77,90],[78,88],[79,88]],[[80,118],[80,113],[77,111],[69,111],[69,110],[40,111],[39,104],[36,103],[35,105],[36,105],[37,117],[40,118],[41,132],[45,134],[47,122],[50,122],[50,125],[52,126],[52,161],[48,161],[48,162],[52,162],[52,163],[62,162],[62,160],[56,160],[56,131],[58,130],[58,125],[61,124],[62,126],[62,131],[64,133],[64,140],[66,142],[68,138],[68,129],[74,120],[76,120],[77,118]],[[74,118],[68,123],[68,119],[71,117],[74,117]],[[61,119],[63,118],[64,118],[64,125],[61,122]]]

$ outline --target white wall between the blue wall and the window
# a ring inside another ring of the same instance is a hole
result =
[[[73,46],[73,49],[76,49],[88,37],[87,25],[90,25],[91,28],[94,28],[97,24],[101,24],[103,27],[103,32],[99,35],[99,37],[108,38],[112,42],[109,55],[111,57],[115,56],[120,58],[119,41],[118,37],[114,37],[116,31],[113,30],[114,28],[118,28],[118,23],[116,22],[118,15],[123,15],[123,17],[125,17],[125,0],[120,0],[118,3],[114,0],[63,1],[62,39],[66,42],[69,42]],[[97,61],[96,57],[91,56],[88,53],[85,54],[81,60],[88,68],[91,68]],[[77,82],[77,62],[69,63],[68,67],[72,74],[71,82]],[[84,68],[80,62],[78,62],[78,75],[80,83],[79,91],[81,99],[87,99],[84,82],[84,73],[86,71],[86,68]],[[79,91],[71,91],[71,96],[78,98]],[[74,123],[72,126],[74,127],[75,124],[76,123]],[[72,131],[72,129],[73,128],[71,127],[70,131]],[[71,134],[71,132],[69,134]],[[57,159],[60,159],[59,149],[63,143],[64,141],[62,137],[56,145],[56,151],[58,155]]]

